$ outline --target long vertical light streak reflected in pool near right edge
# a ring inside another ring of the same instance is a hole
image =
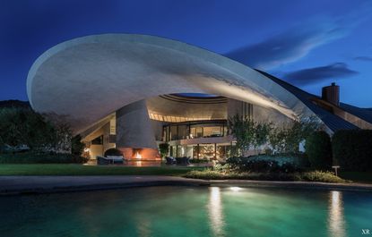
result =
[[[328,231],[332,237],[345,237],[345,218],[343,213],[342,192],[332,190],[328,201]]]

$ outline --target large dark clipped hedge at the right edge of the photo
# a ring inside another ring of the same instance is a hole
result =
[[[372,131],[341,130],[333,134],[333,157],[344,170],[372,170]]]

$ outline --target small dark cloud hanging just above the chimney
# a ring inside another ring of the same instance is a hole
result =
[[[323,80],[346,78],[358,73],[351,70],[346,63],[332,63],[325,66],[287,72],[284,75],[284,79],[298,85],[309,85]]]

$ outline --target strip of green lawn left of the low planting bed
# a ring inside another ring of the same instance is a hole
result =
[[[153,166],[132,167],[119,165],[76,165],[76,164],[28,164],[0,165],[0,175],[181,175],[203,167]]]

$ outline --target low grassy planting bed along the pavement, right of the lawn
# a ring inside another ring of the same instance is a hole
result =
[[[347,182],[330,172],[311,171],[304,173],[255,173],[221,172],[212,169],[194,170],[183,175],[186,178],[203,180],[265,180],[265,181],[307,181],[307,182]]]

